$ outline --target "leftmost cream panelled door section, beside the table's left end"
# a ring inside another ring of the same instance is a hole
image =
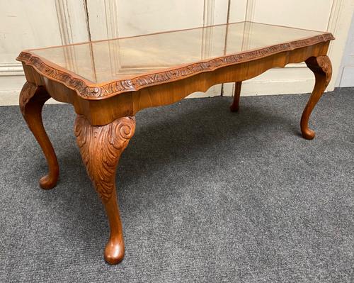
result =
[[[85,0],[0,1],[0,105],[18,104],[21,50],[89,40]]]

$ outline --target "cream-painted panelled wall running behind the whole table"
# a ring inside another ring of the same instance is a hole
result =
[[[333,90],[341,82],[337,78],[353,10],[353,0],[1,1],[0,105],[18,104],[24,77],[14,59],[23,49],[245,20],[330,30],[336,37],[329,51]],[[210,36],[205,35],[203,52]],[[242,95],[303,93],[313,84],[314,76],[304,64],[290,65],[244,82]],[[233,88],[218,85],[205,95],[232,95]]]

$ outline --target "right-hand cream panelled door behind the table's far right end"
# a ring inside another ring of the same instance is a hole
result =
[[[240,2],[244,5],[245,1],[231,0],[230,22],[238,21]],[[353,0],[248,0],[244,18],[246,21],[331,31],[336,40],[329,49],[333,77],[327,91],[333,91],[337,86],[336,78],[353,11]],[[290,64],[284,70],[275,68],[244,82],[241,95],[301,94],[311,92],[313,86],[314,74],[304,63]],[[233,91],[234,84],[225,85],[225,95],[232,95]]]

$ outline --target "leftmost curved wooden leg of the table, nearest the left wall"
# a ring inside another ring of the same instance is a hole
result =
[[[57,155],[55,155],[42,122],[42,107],[48,99],[50,95],[44,87],[37,87],[35,84],[26,82],[21,90],[19,101],[23,118],[42,148],[49,167],[49,173],[40,178],[42,189],[55,187],[59,177]]]

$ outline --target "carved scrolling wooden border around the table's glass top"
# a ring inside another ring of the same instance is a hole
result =
[[[331,33],[323,33],[309,38],[294,40],[289,43],[279,43],[277,45],[270,45],[255,50],[215,57],[209,60],[201,60],[187,65],[171,67],[164,71],[142,74],[132,79],[116,80],[103,84],[93,84],[92,82],[79,77],[79,75],[74,74],[74,72],[65,70],[63,67],[59,67],[58,65],[35,55],[30,50],[22,51],[16,60],[23,62],[25,65],[34,67],[35,70],[43,76],[60,82],[69,87],[69,89],[74,89],[74,91],[76,91],[76,93],[83,99],[99,100],[107,99],[111,96],[128,91],[138,91],[144,87],[150,87],[156,84],[174,82],[202,72],[212,72],[221,67],[261,59],[279,52],[292,51],[297,48],[325,43],[334,39],[335,38]]]

